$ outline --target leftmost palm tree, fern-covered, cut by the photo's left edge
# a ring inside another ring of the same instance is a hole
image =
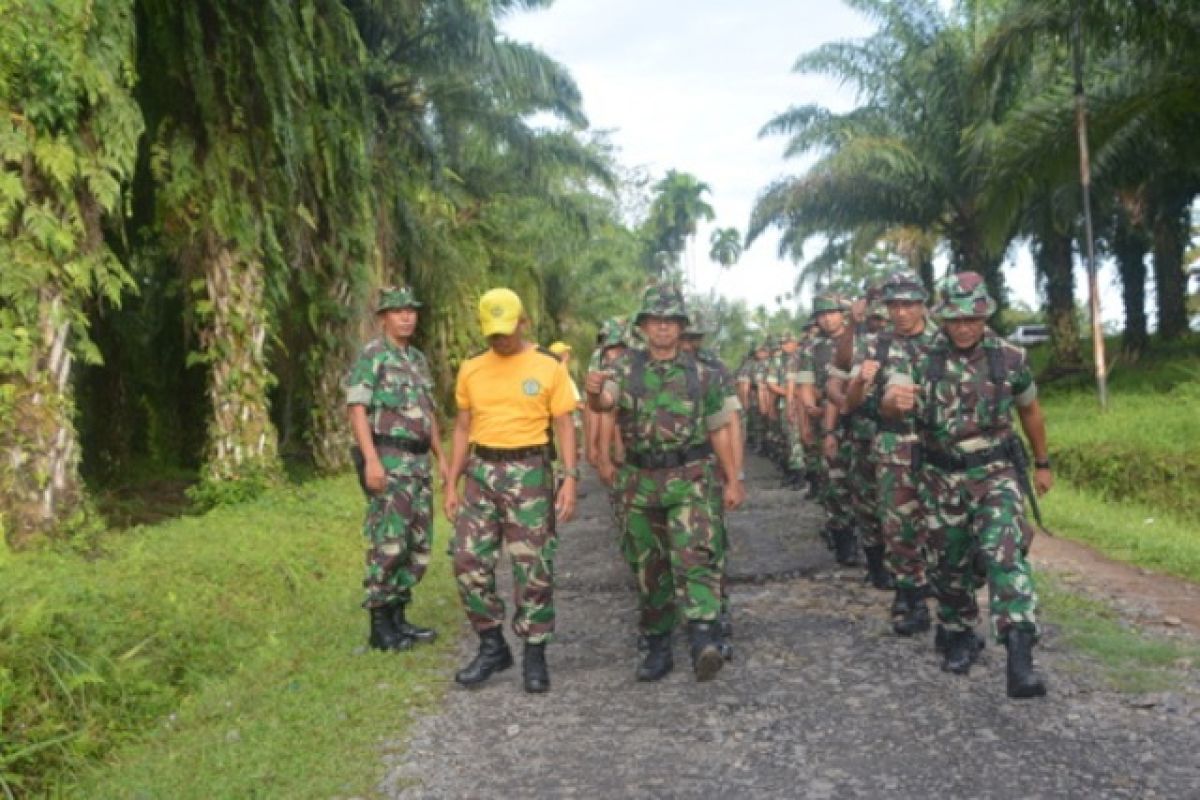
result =
[[[104,236],[133,174],[128,2],[26,2],[0,26],[0,529],[20,547],[86,522],[74,365],[86,306],[132,281]]]

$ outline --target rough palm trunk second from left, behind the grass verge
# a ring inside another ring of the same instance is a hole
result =
[[[278,440],[266,392],[266,309],[263,269],[209,234],[204,281],[210,311],[200,331],[209,362],[210,416],[205,483],[262,481],[280,474]]]

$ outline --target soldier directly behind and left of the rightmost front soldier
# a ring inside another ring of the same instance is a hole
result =
[[[876,333],[856,350],[850,396],[880,422],[872,452],[883,548],[882,553],[868,553],[868,559],[871,563],[886,559],[896,590],[892,603],[893,630],[900,636],[912,636],[928,631],[930,625],[925,604],[930,593],[925,578],[928,529],[917,494],[919,438],[912,417],[882,419],[878,409],[886,377],[912,374],[916,362],[932,345],[937,330],[926,320],[928,294],[914,273],[895,272],[882,289],[892,330]]]

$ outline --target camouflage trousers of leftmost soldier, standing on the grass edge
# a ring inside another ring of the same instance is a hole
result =
[[[388,486],[372,494],[362,535],[367,540],[365,608],[409,603],[413,587],[430,565],[433,545],[433,489],[428,470],[397,470],[397,459],[380,455]],[[403,459],[398,459],[403,461]]]

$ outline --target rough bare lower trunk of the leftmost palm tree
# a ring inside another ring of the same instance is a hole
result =
[[[0,425],[0,517],[13,548],[58,533],[85,504],[66,299],[52,284],[38,295],[37,350],[26,373],[6,377],[11,399],[0,405],[11,411]]]

